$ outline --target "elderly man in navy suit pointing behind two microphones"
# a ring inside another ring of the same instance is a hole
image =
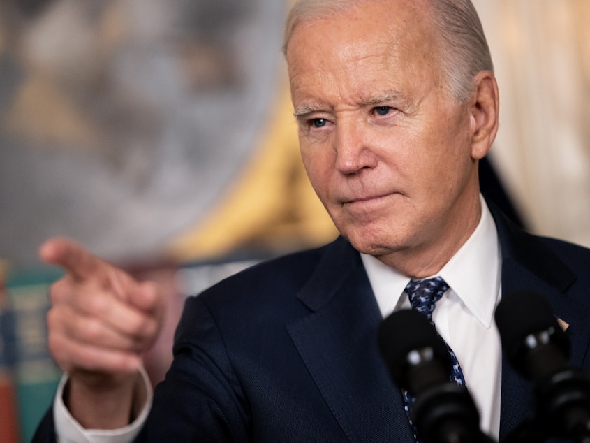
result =
[[[67,271],[49,327],[68,379],[38,441],[55,425],[63,442],[411,442],[376,329],[425,278],[494,438],[531,414],[529,383],[501,358],[502,295],[544,293],[589,366],[590,252],[518,231],[480,196],[499,99],[469,0],[301,0],[285,52],[302,159],[341,237],[189,298],[152,402],[138,368],[161,323],[156,289],[47,242],[45,261]]]

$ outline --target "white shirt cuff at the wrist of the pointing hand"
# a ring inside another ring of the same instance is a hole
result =
[[[59,443],[128,443],[140,432],[143,424],[147,420],[147,414],[152,407],[152,398],[154,393],[152,391],[152,384],[149,381],[147,372],[144,368],[140,369],[145,389],[147,392],[147,400],[142,407],[140,414],[133,423],[128,424],[124,428],[119,429],[84,429],[71,416],[68,408],[64,405],[64,386],[68,381],[67,375],[61,377],[61,381],[57,386],[57,393],[53,402],[53,420],[55,423],[55,432]]]

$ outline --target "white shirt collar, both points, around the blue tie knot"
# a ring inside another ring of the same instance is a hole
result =
[[[480,200],[482,216],[478,226],[436,275],[443,277],[469,312],[489,328],[500,292],[501,253],[494,218],[482,196]],[[383,317],[409,307],[401,294],[410,278],[374,256],[361,254],[361,259]]]

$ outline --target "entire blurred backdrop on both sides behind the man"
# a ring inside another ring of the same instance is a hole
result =
[[[475,0],[501,93],[487,193],[590,246],[590,2]],[[43,240],[182,301],[336,232],[307,183],[281,56],[288,1],[0,0],[0,441],[28,441],[59,371]],[[10,409],[8,409],[10,408]]]

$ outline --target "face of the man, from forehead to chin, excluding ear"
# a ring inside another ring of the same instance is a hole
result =
[[[287,52],[311,184],[344,237],[385,262],[464,241],[480,210],[468,107],[445,92],[418,3],[302,22]]]

